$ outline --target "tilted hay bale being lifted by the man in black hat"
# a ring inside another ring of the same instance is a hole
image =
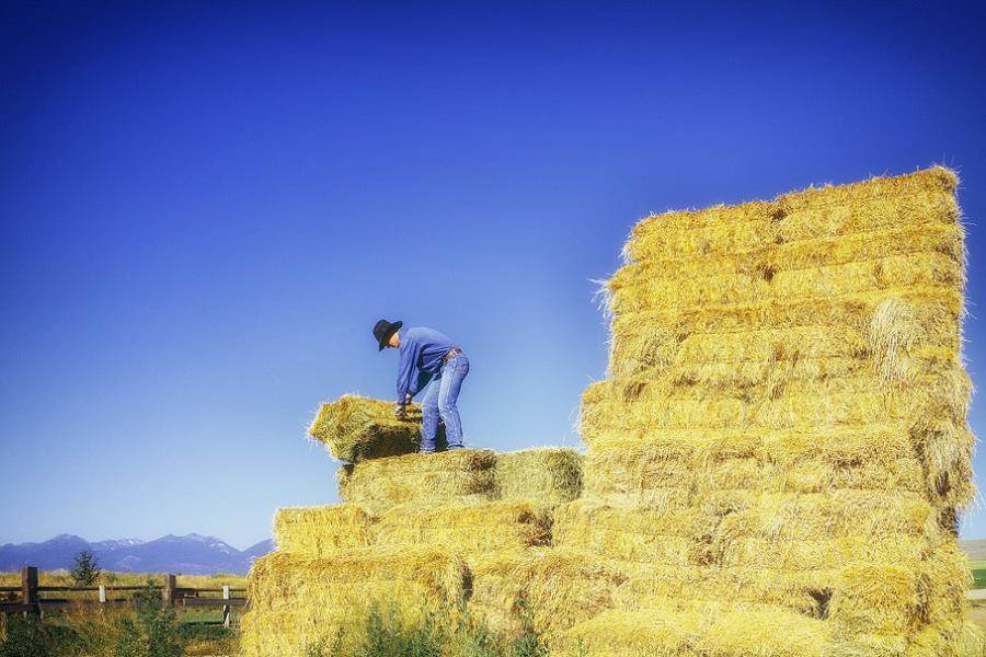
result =
[[[406,419],[397,419],[390,402],[344,394],[322,404],[308,435],[333,458],[348,463],[416,452],[421,406],[409,405]]]

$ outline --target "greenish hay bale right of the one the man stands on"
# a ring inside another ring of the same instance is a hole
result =
[[[496,454],[501,499],[562,504],[582,494],[583,456],[569,448],[542,447]]]

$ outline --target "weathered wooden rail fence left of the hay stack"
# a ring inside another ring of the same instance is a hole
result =
[[[130,598],[111,598],[116,592],[146,591],[147,586],[38,586],[37,568],[24,566],[21,568],[21,586],[0,586],[0,595],[3,597],[13,595],[16,600],[0,601],[0,613],[44,614],[51,609],[65,609],[78,606],[102,604],[107,607],[123,607],[131,604]],[[222,588],[193,588],[179,587],[174,575],[165,575],[161,586],[153,586],[153,590],[161,591],[161,601],[171,607],[221,607],[222,620],[219,621],[226,627],[230,624],[230,610],[233,607],[246,604],[245,595],[232,597],[232,593],[245,593],[244,588],[231,588],[229,585]],[[51,599],[42,597],[41,593],[50,592],[98,592],[98,599]],[[222,597],[202,596],[202,593],[221,593]],[[217,623],[218,624],[218,623]]]

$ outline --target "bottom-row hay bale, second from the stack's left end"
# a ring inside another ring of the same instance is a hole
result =
[[[587,552],[535,548],[479,558],[472,569],[469,612],[500,635],[516,635],[530,614],[534,630],[549,644],[581,621],[612,607],[626,580],[617,568]]]

